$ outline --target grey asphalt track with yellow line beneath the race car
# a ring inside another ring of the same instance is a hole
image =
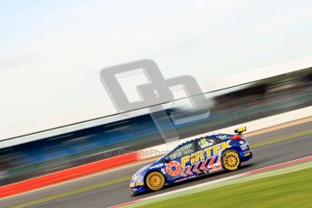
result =
[[[247,138],[252,147],[253,159],[242,164],[235,172],[220,172],[165,187],[147,194],[132,196],[129,179],[137,170],[151,161],[119,167],[33,192],[0,199],[0,207],[108,207],[139,198],[161,194],[194,184],[201,184],[222,177],[236,175],[268,165],[312,155],[312,122],[307,122],[262,133]]]

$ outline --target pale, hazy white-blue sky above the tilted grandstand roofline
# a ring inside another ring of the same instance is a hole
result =
[[[114,113],[99,82],[111,65],[153,59],[165,77],[192,75],[206,91],[309,57],[311,5],[0,0],[1,137]]]

